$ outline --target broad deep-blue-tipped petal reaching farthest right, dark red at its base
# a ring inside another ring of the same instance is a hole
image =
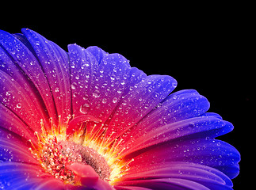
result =
[[[151,163],[162,163],[165,161],[187,161],[208,165],[219,169],[228,177],[235,177],[239,173],[239,152],[227,142],[216,139],[186,139],[177,142],[166,142],[151,146],[147,151],[139,150],[130,156],[134,161],[130,165],[150,165]],[[155,156],[157,155],[157,157]]]

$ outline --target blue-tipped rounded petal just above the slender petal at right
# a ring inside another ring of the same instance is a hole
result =
[[[132,143],[137,144],[137,138],[141,139],[143,136],[143,139],[145,139],[144,137],[148,136],[149,139],[151,139],[152,135],[166,135],[167,131],[170,131],[171,126],[173,126],[170,124],[200,116],[206,112],[208,108],[209,103],[207,99],[197,93],[196,90],[187,89],[172,93],[155,109],[148,113],[147,116],[140,120],[138,124],[132,127],[128,133],[124,133],[122,139],[124,139],[126,146],[129,145],[133,147]],[[167,124],[169,124],[170,127],[167,127]],[[160,127],[162,127],[162,130]],[[139,140],[139,142],[141,141]]]

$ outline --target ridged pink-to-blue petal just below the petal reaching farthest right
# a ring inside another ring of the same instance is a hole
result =
[[[121,180],[178,178],[203,184],[209,189],[231,189],[231,180],[217,169],[189,162],[170,161],[147,167],[132,167]]]

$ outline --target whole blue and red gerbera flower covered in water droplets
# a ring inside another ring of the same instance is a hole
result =
[[[26,28],[0,32],[0,66],[1,188],[232,188],[232,124],[174,78]]]

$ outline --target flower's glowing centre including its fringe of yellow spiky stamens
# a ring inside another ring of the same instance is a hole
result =
[[[59,116],[59,126],[52,124],[51,130],[47,130],[41,120],[40,135],[37,131],[35,132],[38,143],[35,146],[30,140],[32,147],[29,150],[36,156],[46,173],[63,180],[64,184],[80,184],[79,177],[67,169],[68,165],[75,162],[90,165],[101,180],[113,184],[128,171],[128,164],[133,159],[124,161],[120,158],[117,146],[122,139],[107,143],[105,139],[107,129],[102,131],[103,124],[94,134],[86,131],[86,124],[94,121],[90,120],[90,116],[88,118],[72,135],[66,135],[68,125],[73,121],[70,121],[71,116],[68,117],[65,124],[61,124]],[[50,121],[52,122],[52,120]],[[96,124],[94,124],[95,126]]]

